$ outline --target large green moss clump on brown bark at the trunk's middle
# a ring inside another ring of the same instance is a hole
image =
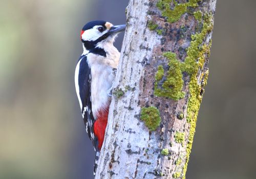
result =
[[[158,97],[168,97],[174,100],[184,98],[185,93],[182,91],[184,81],[182,79],[181,62],[176,59],[175,53],[165,52],[163,56],[169,60],[169,69],[167,71],[166,80],[161,87],[158,87],[162,79],[160,77],[163,77],[163,68],[158,68],[154,94]]]

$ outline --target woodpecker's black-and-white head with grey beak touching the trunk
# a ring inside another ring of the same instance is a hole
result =
[[[115,41],[116,36],[125,30],[125,25],[114,26],[113,24],[96,20],[83,26],[81,31],[81,41],[84,51],[90,51],[95,48],[102,48],[106,43]]]

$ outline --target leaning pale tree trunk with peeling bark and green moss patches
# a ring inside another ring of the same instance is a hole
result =
[[[131,0],[96,178],[185,178],[216,0]]]

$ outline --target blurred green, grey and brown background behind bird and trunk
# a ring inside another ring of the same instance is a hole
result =
[[[128,1],[0,2],[0,178],[90,179],[74,71],[80,29],[124,24]],[[256,1],[218,0],[187,178],[256,178]],[[122,36],[116,46],[120,49]]]

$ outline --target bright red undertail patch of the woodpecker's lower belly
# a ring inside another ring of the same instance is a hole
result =
[[[101,149],[103,144],[106,124],[108,123],[108,116],[109,116],[109,107],[99,112],[99,115],[97,115],[97,120],[94,123],[93,129],[94,129],[95,136],[98,138],[98,141],[99,141],[99,144],[98,144],[99,150]]]

